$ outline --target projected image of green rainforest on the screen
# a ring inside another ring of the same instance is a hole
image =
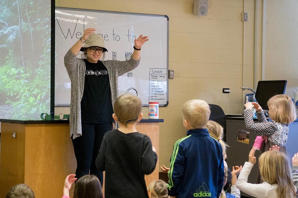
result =
[[[1,119],[38,119],[49,113],[50,28],[49,0],[1,0]]]

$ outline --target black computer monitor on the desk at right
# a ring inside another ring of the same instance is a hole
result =
[[[268,112],[268,100],[277,94],[285,94],[286,80],[263,80],[258,82],[256,100],[264,110]]]

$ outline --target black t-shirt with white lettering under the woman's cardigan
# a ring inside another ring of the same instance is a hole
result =
[[[86,64],[84,92],[81,100],[82,123],[110,123],[113,107],[108,70],[101,61]]]

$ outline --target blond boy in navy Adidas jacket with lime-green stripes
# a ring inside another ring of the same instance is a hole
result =
[[[204,100],[189,100],[182,106],[187,136],[173,148],[168,173],[171,197],[219,197],[224,182],[224,159],[220,143],[205,129],[210,108]]]

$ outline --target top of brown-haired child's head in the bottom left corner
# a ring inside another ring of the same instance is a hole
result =
[[[5,198],[35,198],[35,195],[29,186],[20,183],[11,187]]]

